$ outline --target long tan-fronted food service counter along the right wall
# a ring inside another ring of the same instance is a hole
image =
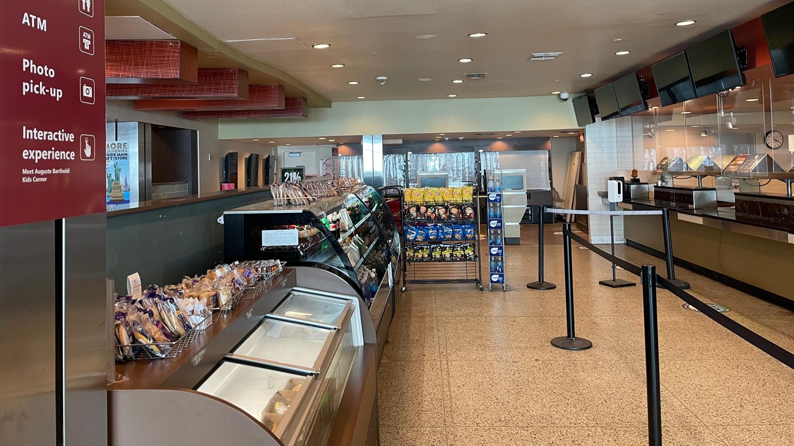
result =
[[[781,280],[794,271],[794,233],[737,215],[733,209],[690,210],[632,200],[628,210],[669,209],[676,263],[749,294],[794,310],[794,289]],[[665,251],[661,218],[625,216],[626,243]]]

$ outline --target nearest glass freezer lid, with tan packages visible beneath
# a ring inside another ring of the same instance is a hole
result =
[[[221,398],[261,421],[271,432],[282,433],[306,394],[309,381],[303,375],[224,360],[196,390]]]

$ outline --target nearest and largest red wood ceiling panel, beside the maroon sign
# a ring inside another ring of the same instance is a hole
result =
[[[179,40],[106,40],[106,83],[197,83],[198,50]]]

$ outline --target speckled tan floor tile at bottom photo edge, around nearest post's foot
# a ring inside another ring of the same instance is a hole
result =
[[[706,428],[662,429],[665,446],[726,446]],[[449,446],[640,446],[645,428],[448,426]]]

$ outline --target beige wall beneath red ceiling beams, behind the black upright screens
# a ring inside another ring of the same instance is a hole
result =
[[[168,125],[182,129],[198,130],[198,192],[214,192],[220,190],[223,156],[228,152],[239,155],[238,171],[245,172],[245,157],[251,153],[267,156],[276,153],[275,147],[239,141],[218,140],[218,121],[195,121],[183,119],[180,113],[149,112],[133,109],[132,101],[110,100],[107,102],[107,117],[124,121],[148,122],[156,125]],[[260,158],[260,165],[262,161]],[[238,175],[238,187],[245,186],[245,175]],[[261,179],[260,179],[260,184]]]

